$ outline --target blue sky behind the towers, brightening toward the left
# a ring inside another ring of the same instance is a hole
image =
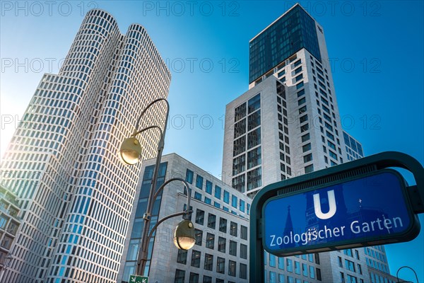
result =
[[[1,155],[43,73],[57,73],[90,8],[141,23],[172,72],[165,153],[219,176],[225,105],[248,88],[249,40],[295,1],[1,1]],[[301,1],[323,26],[344,128],[365,154],[424,163],[423,1]],[[406,175],[413,182],[411,175]],[[420,217],[423,222],[423,216]],[[424,231],[387,246],[424,281]],[[408,270],[401,277],[415,279]]]

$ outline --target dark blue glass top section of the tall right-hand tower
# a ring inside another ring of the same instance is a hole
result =
[[[250,42],[249,83],[302,48],[321,60],[315,21],[296,5]]]

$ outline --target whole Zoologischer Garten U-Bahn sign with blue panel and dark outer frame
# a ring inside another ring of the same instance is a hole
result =
[[[415,178],[408,186],[392,169]],[[264,249],[278,256],[411,241],[424,213],[424,168],[383,152],[267,185],[250,211],[249,281],[264,279]]]

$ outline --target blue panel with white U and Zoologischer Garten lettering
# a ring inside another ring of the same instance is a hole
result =
[[[270,253],[293,255],[370,246],[388,238],[408,241],[419,229],[409,207],[399,173],[379,171],[271,198],[262,211],[262,242]]]

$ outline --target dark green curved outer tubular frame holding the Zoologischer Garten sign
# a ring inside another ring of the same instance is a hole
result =
[[[264,279],[264,246],[262,246],[263,234],[261,225],[263,221],[262,207],[266,200],[278,195],[280,190],[293,190],[295,187],[305,187],[314,182],[328,184],[332,178],[365,175],[370,171],[391,167],[404,168],[413,174],[416,185],[406,187],[408,200],[411,202],[414,214],[424,213],[424,168],[412,156],[398,151],[386,151],[367,156],[338,166],[266,185],[259,190],[252,202],[249,219],[249,281],[262,282]]]

